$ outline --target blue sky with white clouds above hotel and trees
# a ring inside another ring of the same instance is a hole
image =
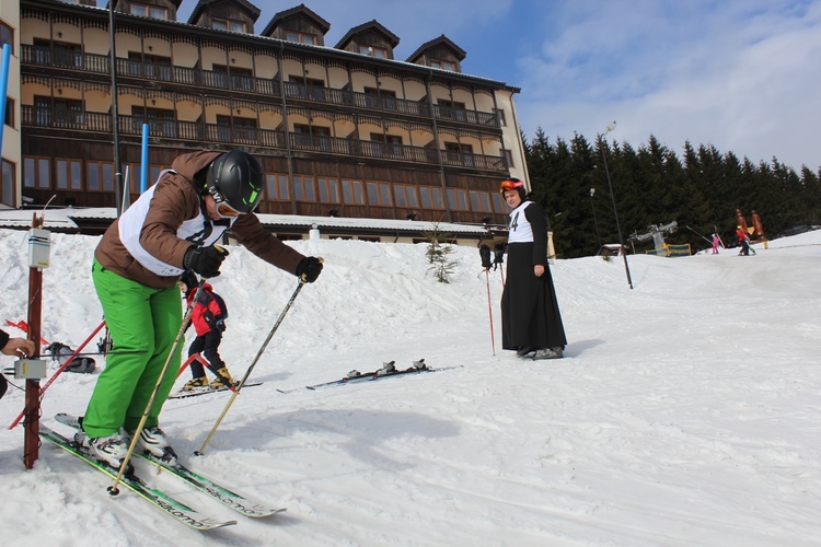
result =
[[[401,60],[444,34],[464,72],[521,88],[528,138],[593,140],[616,120],[608,139],[633,147],[655,135],[680,158],[689,140],[821,168],[821,0],[252,0],[255,31],[301,2],[331,47],[373,19]]]

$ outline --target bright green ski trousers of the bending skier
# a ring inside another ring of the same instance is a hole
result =
[[[183,321],[180,289],[151,289],[103,268],[91,268],[94,289],[114,349],[94,386],[83,418],[90,438],[107,437],[139,426],[157,387]],[[159,424],[160,410],[180,371],[182,340],[148,411],[144,427]]]

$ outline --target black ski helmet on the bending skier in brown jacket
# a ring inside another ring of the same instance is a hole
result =
[[[226,202],[240,213],[256,209],[263,197],[263,167],[242,150],[217,156],[206,173],[206,189],[217,202]]]

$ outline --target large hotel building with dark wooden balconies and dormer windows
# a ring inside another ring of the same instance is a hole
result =
[[[199,0],[187,23],[181,0],[112,1],[20,0],[4,203],[120,208],[180,153],[243,149],[266,173],[259,213],[506,223],[499,181],[527,181],[519,90],[462,73],[444,35],[403,61],[377,21],[326,45],[304,4],[254,34],[244,0]]]

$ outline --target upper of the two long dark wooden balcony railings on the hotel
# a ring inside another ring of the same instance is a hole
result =
[[[27,44],[21,45],[21,63],[77,70],[81,73],[111,73],[108,56],[63,49],[51,50],[48,47]],[[269,97],[280,96],[279,80],[277,78],[265,79],[243,74],[228,74],[212,70],[122,58],[117,58],[117,74],[124,78],[124,84],[128,83],[127,79],[136,78],[139,80],[190,85],[200,90],[206,88],[253,93]],[[379,96],[372,93],[304,85],[296,82],[285,82],[285,94],[288,98],[310,101],[312,103],[350,106],[365,110],[380,110],[424,118],[431,117],[430,106],[427,101],[408,101],[391,96]],[[494,113],[435,105],[433,116],[442,121],[500,128],[499,119]]]

